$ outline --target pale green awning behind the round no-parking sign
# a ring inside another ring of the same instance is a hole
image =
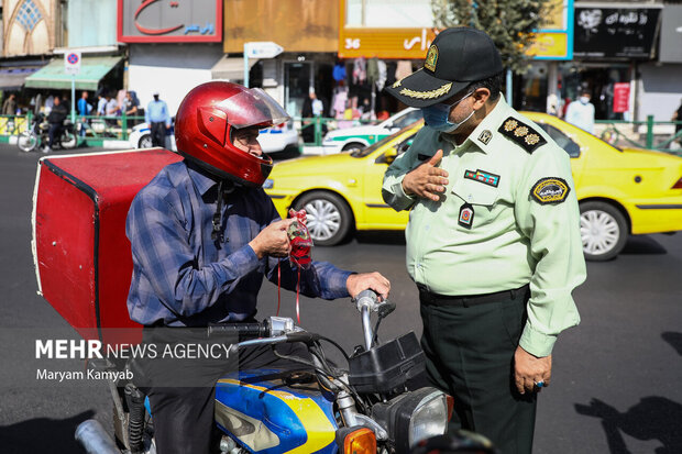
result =
[[[78,90],[97,90],[99,81],[121,60],[122,57],[89,57],[80,60],[80,73],[76,76]],[[64,59],[57,58],[35,74],[26,77],[26,88],[72,88],[72,75],[64,69]]]

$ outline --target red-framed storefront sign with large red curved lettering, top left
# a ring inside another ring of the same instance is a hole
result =
[[[122,43],[219,43],[222,0],[118,0]]]

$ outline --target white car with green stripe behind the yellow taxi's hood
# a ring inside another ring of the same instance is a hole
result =
[[[378,124],[330,131],[324,135],[324,141],[322,142],[324,154],[353,148],[362,150],[421,120],[421,118],[420,109],[407,108]]]

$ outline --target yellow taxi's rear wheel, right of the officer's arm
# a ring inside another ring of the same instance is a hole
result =
[[[614,206],[600,202],[580,204],[580,235],[585,259],[604,262],[623,251],[628,236],[627,221]]]

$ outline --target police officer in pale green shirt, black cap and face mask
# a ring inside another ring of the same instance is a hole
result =
[[[424,67],[388,91],[426,126],[388,167],[384,200],[411,210],[407,269],[419,289],[427,374],[455,398],[451,430],[530,453],[537,391],[558,334],[580,321],[585,279],[569,156],[501,95],[493,41],[441,32]]]

